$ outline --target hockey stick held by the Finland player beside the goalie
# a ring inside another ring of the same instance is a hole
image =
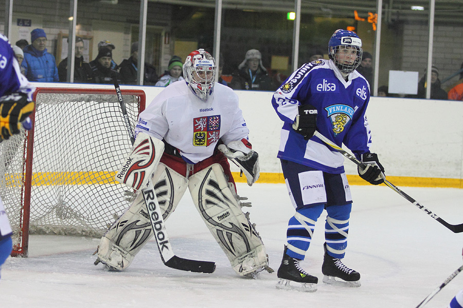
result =
[[[350,161],[354,162],[355,164],[357,164],[358,166],[361,166],[361,167],[366,167],[366,165],[364,163],[362,163],[361,161],[359,161],[357,158],[353,157],[352,155],[350,155],[348,152],[346,152],[345,150],[343,150],[341,147],[337,146],[335,143],[333,143],[331,140],[329,140],[328,138],[326,138],[325,136],[323,136],[323,134],[319,133],[318,131],[315,131],[315,134],[314,134],[315,137],[317,137],[318,139],[322,140],[323,142],[325,142],[327,145],[329,145],[330,147],[332,147],[333,149],[335,149],[336,151],[340,152],[342,155],[344,155],[345,157],[347,157]],[[384,184],[386,184],[387,186],[389,186],[391,189],[393,189],[395,192],[397,192],[397,194],[399,194],[400,196],[402,196],[403,198],[407,199],[409,202],[415,204],[419,209],[421,209],[422,211],[424,211],[424,213],[428,214],[429,216],[431,216],[432,218],[434,218],[435,220],[437,220],[438,222],[440,222],[441,224],[443,224],[444,226],[446,226],[448,229],[450,229],[453,233],[460,233],[460,232],[463,232],[463,223],[461,224],[457,224],[457,225],[453,225],[453,224],[450,224],[448,223],[447,221],[443,220],[442,218],[440,218],[439,216],[437,216],[436,214],[434,214],[431,210],[429,210],[428,208],[424,207],[423,205],[419,204],[418,201],[416,201],[415,199],[413,199],[412,197],[408,196],[407,194],[405,194],[405,192],[403,192],[402,190],[400,190],[397,186],[395,186],[394,184],[390,183],[389,181],[387,180],[384,180]]]

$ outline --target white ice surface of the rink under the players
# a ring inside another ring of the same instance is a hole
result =
[[[278,269],[293,215],[284,184],[238,183],[238,194],[253,207],[270,258]],[[451,224],[463,222],[463,189],[401,187],[422,205]],[[28,258],[9,258],[2,268],[0,307],[310,307],[413,308],[461,264],[463,234],[423,213],[390,188],[351,186],[354,200],[349,246],[344,263],[361,273],[362,286],[323,284],[325,212],[301,266],[319,278],[318,291],[276,290],[276,273],[262,272],[256,280],[241,278],[231,269],[185,195],[166,222],[174,253],[179,257],[215,261],[212,274],[166,267],[155,242],[149,242],[124,272],[94,266],[99,239],[30,237]],[[452,280],[426,307],[446,307],[463,288],[463,274]]]

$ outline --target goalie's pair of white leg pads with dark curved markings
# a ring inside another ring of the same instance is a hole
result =
[[[213,164],[187,180],[160,163],[152,181],[165,220],[189,187],[201,217],[237,274],[252,274],[268,266],[262,240],[248,215],[242,212],[235,189],[230,189],[219,164]],[[123,270],[152,236],[143,195],[138,194],[132,205],[101,238],[97,261],[112,269]]]

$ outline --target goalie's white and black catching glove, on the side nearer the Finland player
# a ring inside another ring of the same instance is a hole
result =
[[[243,171],[247,185],[256,183],[259,179],[259,155],[249,141],[243,138],[227,145],[221,144],[218,149]]]

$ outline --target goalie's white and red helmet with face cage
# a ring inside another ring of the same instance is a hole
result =
[[[212,94],[216,81],[216,61],[204,49],[192,51],[183,65],[187,85],[202,101]]]

